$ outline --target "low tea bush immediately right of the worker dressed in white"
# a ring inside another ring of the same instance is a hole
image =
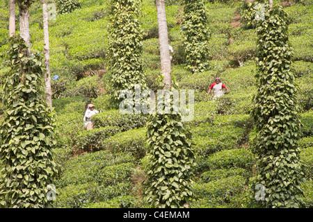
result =
[[[106,110],[92,117],[95,128],[115,126],[120,131],[140,128],[145,125],[146,117],[142,114],[122,114],[120,110]]]

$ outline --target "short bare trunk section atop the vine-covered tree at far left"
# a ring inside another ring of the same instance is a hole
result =
[[[24,39],[27,46],[31,48],[31,34],[29,33],[29,7],[31,6],[31,1],[26,1],[19,4],[19,35]]]

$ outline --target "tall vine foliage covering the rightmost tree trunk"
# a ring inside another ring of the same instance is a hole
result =
[[[263,207],[303,207],[300,121],[295,77],[290,71],[287,15],[280,6],[266,5],[264,16],[257,27],[258,91],[252,110],[257,173],[252,184],[265,187],[266,201],[259,203]]]

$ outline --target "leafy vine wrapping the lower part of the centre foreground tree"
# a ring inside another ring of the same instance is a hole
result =
[[[147,202],[152,207],[184,207],[193,195],[190,187],[195,156],[191,133],[182,124],[180,114],[152,115],[147,122],[147,144]]]

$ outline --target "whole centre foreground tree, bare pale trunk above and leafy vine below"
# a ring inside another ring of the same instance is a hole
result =
[[[182,116],[175,112],[170,55],[168,49],[168,27],[165,1],[156,0],[159,24],[159,49],[163,78],[163,94],[158,94],[158,113],[147,121],[147,144],[150,158],[145,181],[145,197],[153,207],[188,207],[193,196],[193,167],[195,156],[191,149],[191,132],[182,123]],[[168,97],[169,96],[169,97]],[[166,101],[159,112],[159,101]],[[164,112],[163,112],[164,111]]]

